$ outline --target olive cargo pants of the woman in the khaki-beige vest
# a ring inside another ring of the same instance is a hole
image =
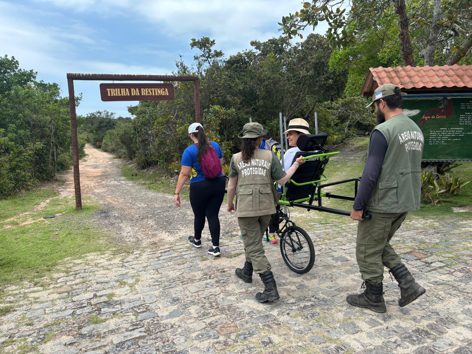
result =
[[[262,245],[262,235],[267,230],[271,216],[261,215],[237,218],[241,235],[243,236],[246,261],[253,263],[253,269],[256,274],[264,274],[270,271],[270,263]]]

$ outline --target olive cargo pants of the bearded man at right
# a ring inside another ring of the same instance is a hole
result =
[[[390,240],[406,218],[403,213],[370,211],[371,220],[359,221],[357,226],[356,259],[362,279],[373,285],[383,281],[384,267],[392,269],[401,263]]]

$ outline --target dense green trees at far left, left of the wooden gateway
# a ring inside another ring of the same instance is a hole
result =
[[[70,167],[70,114],[59,85],[35,81],[14,57],[0,59],[0,73],[0,195],[9,195]]]

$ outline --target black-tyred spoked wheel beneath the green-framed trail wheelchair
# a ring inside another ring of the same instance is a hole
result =
[[[315,248],[303,228],[289,226],[280,238],[280,253],[287,267],[295,273],[309,272],[315,262]]]

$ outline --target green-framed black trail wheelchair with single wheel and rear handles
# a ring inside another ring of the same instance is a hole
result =
[[[306,231],[295,225],[290,219],[290,212],[286,207],[300,207],[315,211],[324,211],[338,215],[350,216],[351,211],[337,210],[323,206],[323,198],[343,199],[354,201],[357,188],[361,178],[350,178],[338,182],[321,184],[326,182],[328,177],[324,175],[324,170],[331,156],[340,152],[328,152],[324,149],[324,144],[328,134],[320,133],[316,135],[302,134],[298,137],[297,147],[301,152],[297,152],[294,157],[297,159],[303,156],[305,163],[295,171],[292,178],[285,185],[277,205],[277,212],[272,215],[271,225],[275,229],[280,242],[280,252],[288,268],[296,273],[306,273],[313,267],[315,261],[315,249],[312,239]],[[343,183],[354,182],[354,196],[322,193],[322,189]],[[363,219],[371,219],[371,215],[364,214]],[[269,240],[266,231],[267,240]]]

